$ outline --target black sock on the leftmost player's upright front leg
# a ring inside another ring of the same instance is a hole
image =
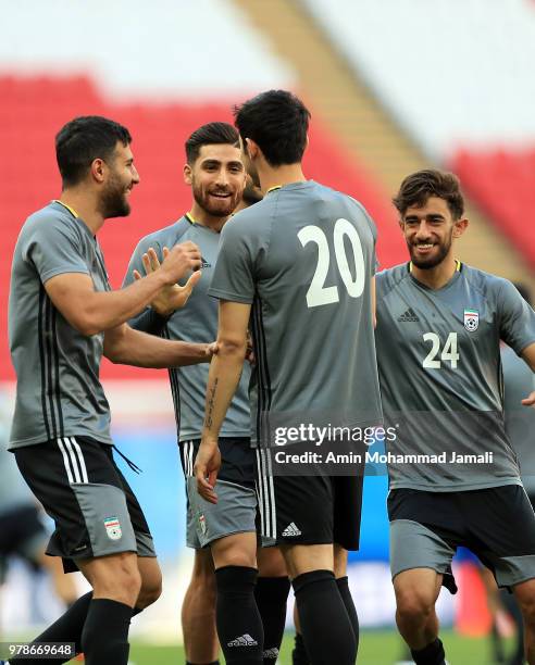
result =
[[[107,598],[92,600],[82,633],[86,665],[126,665],[132,607]]]

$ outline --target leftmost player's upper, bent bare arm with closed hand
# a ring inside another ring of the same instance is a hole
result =
[[[192,242],[175,246],[161,267],[146,278],[117,291],[96,291],[91,278],[82,273],[57,275],[45,284],[54,306],[86,336],[114,328],[146,308],[158,292],[200,266],[199,248]]]

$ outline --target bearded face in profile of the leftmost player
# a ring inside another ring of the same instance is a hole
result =
[[[128,199],[134,185],[139,183],[130,147],[119,141],[113,158],[105,164],[108,174],[100,197],[100,211],[104,219],[125,217],[130,214]]]

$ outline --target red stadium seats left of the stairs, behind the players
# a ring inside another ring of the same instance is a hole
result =
[[[111,283],[119,287],[139,238],[171,224],[189,206],[190,189],[182,178],[184,139],[200,124],[232,121],[231,101],[198,105],[111,103],[86,77],[0,77],[0,145],[10,155],[0,162],[0,234],[9,253],[0,267],[2,329],[7,325],[11,252],[18,229],[29,213],[60,192],[53,137],[63,123],[79,114],[103,114],[125,124],[134,136],[133,151],[141,184],[133,195],[133,214],[127,219],[109,222],[100,235]],[[402,242],[386,197],[315,118],[306,167],[310,177],[347,191],[369,209],[382,231],[383,265],[401,260]],[[7,343],[2,344],[0,368],[2,379],[12,378]],[[111,365],[105,366],[103,374],[113,378],[158,376],[153,372]]]

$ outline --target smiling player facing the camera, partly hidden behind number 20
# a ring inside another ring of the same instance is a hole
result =
[[[137,246],[128,265],[125,285],[145,272],[150,273],[162,259],[162,248],[191,240],[202,254],[202,278],[186,308],[174,311],[173,292],[159,298],[130,325],[170,339],[210,341],[217,334],[217,301],[208,287],[217,259],[220,231],[236,208],[247,206],[261,195],[249,181],[240,159],[238,134],[227,123],[209,123],[196,129],[186,141],[184,178],[191,187],[191,209],[178,222],[150,234]],[[245,187],[245,189],[244,189]],[[245,199],[245,201],[244,201]],[[149,250],[155,252],[152,260]],[[224,547],[226,537],[244,532],[248,540],[256,532],[254,453],[250,447],[248,364],[221,429],[223,467],[217,505],[200,502],[192,478],[204,413],[208,367],[196,365],[170,369],[181,460],[186,476],[188,517],[186,541],[195,549],[191,580],[186,592],[182,624],[187,662],[217,663],[215,630],[215,576],[212,550]],[[221,540],[215,544],[216,540]],[[264,628],[264,663],[273,664],[278,654],[286,618],[289,581],[284,561],[272,548],[260,554],[261,572],[256,594]],[[220,569],[219,578],[232,575]],[[220,594],[220,598],[221,594]],[[224,599],[224,597],[223,597]],[[221,612],[227,613],[223,606]],[[239,638],[248,635],[234,635]],[[258,648],[261,649],[260,642]],[[250,645],[247,645],[250,651]]]

